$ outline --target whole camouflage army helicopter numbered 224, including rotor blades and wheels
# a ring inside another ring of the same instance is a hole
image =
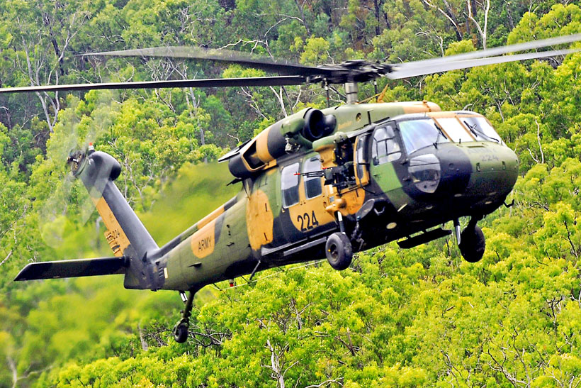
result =
[[[128,289],[175,290],[185,309],[174,338],[188,337],[193,297],[202,287],[291,263],[327,257],[336,270],[353,253],[397,240],[412,248],[454,233],[461,255],[478,262],[485,237],[477,225],[506,204],[519,160],[484,116],[441,111],[428,101],[357,104],[358,83],[566,55],[536,50],[581,40],[581,34],[397,65],[355,60],[310,67],[225,50],[148,48],[90,55],[180,57],[234,62],[279,75],[162,82],[72,84],[0,89],[47,92],[159,87],[344,84],[346,104],[304,109],[220,158],[242,189],[159,247],[113,182],[111,155],[78,150],[67,162],[103,218],[113,257],[28,264],[17,281],[125,275]],[[469,217],[461,231],[459,220]],[[453,228],[444,229],[451,221]],[[186,295],[186,292],[188,294]]]

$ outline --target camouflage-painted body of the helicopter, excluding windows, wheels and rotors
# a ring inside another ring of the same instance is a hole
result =
[[[331,135],[311,143],[300,132],[310,119],[308,112],[273,124],[229,153],[225,159],[232,174],[242,180],[242,190],[162,248],[155,245],[115,187],[118,163],[104,153],[88,155],[97,163],[84,166],[79,177],[89,192],[103,185],[96,179],[106,179],[102,195],[94,200],[103,220],[108,220],[106,236],[119,257],[35,263],[16,279],[125,273],[127,288],[195,291],[255,270],[324,257],[327,236],[339,228],[337,212],[349,232],[361,221],[364,243],[359,249],[367,249],[460,216],[489,214],[502,204],[516,181],[518,160],[505,145],[450,142],[419,152],[436,154],[442,160],[443,183],[434,193],[436,201],[414,189],[409,160],[402,153],[400,160],[381,165],[373,165],[367,156],[361,172],[356,169],[356,184],[344,189],[327,185],[315,198],[307,198],[305,178],[299,176],[298,204],[286,208],[281,192],[284,167],[303,165],[312,157],[320,157],[324,168],[336,166],[336,139],[350,138],[358,147],[364,136],[370,139],[374,128],[383,125],[377,123],[388,119],[416,113],[437,120],[458,114],[440,112],[439,106],[427,101],[337,106],[322,110],[323,117],[332,116],[322,127]],[[286,153],[287,138],[301,147]],[[98,169],[111,173],[103,177]],[[380,206],[375,214],[359,220],[358,211],[369,200]]]

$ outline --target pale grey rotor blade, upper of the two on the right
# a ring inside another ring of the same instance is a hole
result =
[[[564,43],[573,43],[581,40],[581,33],[573,35],[558,36],[557,38],[548,38],[541,40],[531,40],[530,42],[517,43],[515,45],[501,46],[497,48],[490,48],[487,50],[478,50],[471,52],[464,52],[463,54],[449,55],[447,57],[437,57],[429,60],[417,60],[414,62],[404,62],[400,65],[405,67],[425,67],[436,65],[438,63],[456,62],[460,60],[472,60],[476,58],[492,57],[497,55],[508,54],[510,52],[534,50],[537,48],[546,48],[553,45],[562,45]],[[398,65],[398,66],[400,66]]]

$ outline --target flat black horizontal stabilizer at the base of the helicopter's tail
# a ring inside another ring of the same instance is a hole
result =
[[[129,260],[125,256],[33,262],[24,267],[14,280],[124,274],[128,264]]]

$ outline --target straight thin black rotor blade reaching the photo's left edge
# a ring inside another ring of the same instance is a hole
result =
[[[249,78],[176,79],[169,81],[108,82],[102,84],[41,85],[38,87],[6,87],[1,93],[60,92],[63,90],[95,89],[157,89],[163,87],[269,87],[305,84],[300,75]]]

